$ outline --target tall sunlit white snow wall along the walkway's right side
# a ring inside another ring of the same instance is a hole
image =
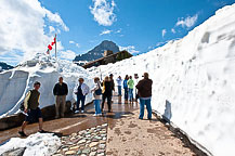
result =
[[[235,4],[181,40],[90,70],[122,78],[148,72],[154,109],[213,155],[235,154]]]

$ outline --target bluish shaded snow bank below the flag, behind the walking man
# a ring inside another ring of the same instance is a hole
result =
[[[40,107],[54,104],[52,89],[58,77],[63,76],[68,84],[68,101],[75,101],[74,87],[78,78],[84,78],[86,83],[93,87],[93,79],[89,73],[68,61],[57,62],[37,54],[32,60],[21,63],[16,68],[0,74],[0,118],[18,112],[21,103],[35,81],[41,82]],[[87,103],[92,101],[92,94],[87,96]]]

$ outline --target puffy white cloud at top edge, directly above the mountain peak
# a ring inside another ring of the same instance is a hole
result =
[[[92,0],[94,5],[90,6],[91,13],[100,25],[110,26],[116,21],[116,15],[114,14],[115,2],[112,0]]]

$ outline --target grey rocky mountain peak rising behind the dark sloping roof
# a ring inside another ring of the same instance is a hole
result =
[[[89,52],[77,55],[74,62],[79,63],[79,62],[90,62],[90,61],[97,60],[104,56],[105,50],[110,50],[114,53],[120,51],[119,47],[116,43],[114,43],[113,41],[104,40],[94,49],[90,50]]]

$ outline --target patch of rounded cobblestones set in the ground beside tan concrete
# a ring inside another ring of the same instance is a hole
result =
[[[104,156],[107,123],[62,136],[62,146],[53,156]]]

